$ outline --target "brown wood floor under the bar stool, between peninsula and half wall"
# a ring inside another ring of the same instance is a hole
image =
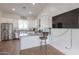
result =
[[[25,50],[21,50],[21,55],[64,55],[64,53],[58,51],[54,47],[47,45],[47,49],[43,46],[42,49],[40,47],[29,48]]]

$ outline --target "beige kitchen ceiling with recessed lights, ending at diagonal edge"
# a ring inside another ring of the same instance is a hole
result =
[[[37,15],[46,7],[46,5],[46,3],[36,3],[35,5],[32,3],[0,3],[0,10],[20,16],[37,17]],[[13,8],[15,11],[12,11]]]

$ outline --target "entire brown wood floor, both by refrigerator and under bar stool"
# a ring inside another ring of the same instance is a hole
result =
[[[40,46],[20,51],[20,40],[2,41],[0,42],[0,55],[64,55],[54,47],[47,45],[47,49]]]

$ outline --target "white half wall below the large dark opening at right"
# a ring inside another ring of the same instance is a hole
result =
[[[71,37],[72,30],[72,37]],[[65,32],[65,33],[64,33]],[[79,29],[52,29],[50,45],[65,54],[79,54]],[[64,33],[63,35],[61,35]],[[59,36],[60,35],[60,36]],[[72,46],[71,46],[72,38]]]

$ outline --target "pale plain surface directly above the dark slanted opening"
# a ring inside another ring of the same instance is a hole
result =
[[[50,3],[48,5],[51,16],[56,16],[70,10],[79,8],[79,3]]]

